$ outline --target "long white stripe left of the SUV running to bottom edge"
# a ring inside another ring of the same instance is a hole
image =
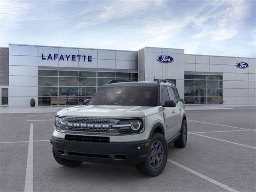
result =
[[[24,192],[33,192],[33,124],[30,124]]]

